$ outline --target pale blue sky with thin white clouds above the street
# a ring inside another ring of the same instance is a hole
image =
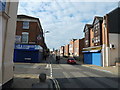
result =
[[[18,14],[40,19],[45,41],[50,49],[59,49],[71,39],[84,38],[85,24],[92,24],[95,16],[104,16],[118,5],[117,2],[19,2]]]

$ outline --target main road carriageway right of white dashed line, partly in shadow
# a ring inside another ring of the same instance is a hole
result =
[[[119,88],[118,76],[113,74],[81,66],[80,64],[67,64],[61,59],[56,64],[53,57],[49,58],[51,63],[52,77],[59,82],[60,88]]]

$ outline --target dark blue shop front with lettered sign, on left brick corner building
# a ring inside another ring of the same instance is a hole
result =
[[[43,59],[43,48],[39,45],[15,44],[14,62],[39,63]]]

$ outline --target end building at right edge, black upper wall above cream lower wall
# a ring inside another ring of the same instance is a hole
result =
[[[108,49],[107,66],[115,65],[119,62],[120,56],[120,7],[114,9],[104,16],[103,30],[104,30],[104,48]],[[114,17],[114,18],[113,18]],[[106,54],[105,53],[105,54]],[[106,59],[106,57],[104,57]],[[106,63],[106,62],[105,62]]]

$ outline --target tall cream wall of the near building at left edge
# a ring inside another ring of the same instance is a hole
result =
[[[17,2],[7,2],[7,19],[2,16],[3,46],[2,46],[2,83],[6,83],[13,78],[13,50],[17,18]],[[0,16],[1,18],[1,16]]]

